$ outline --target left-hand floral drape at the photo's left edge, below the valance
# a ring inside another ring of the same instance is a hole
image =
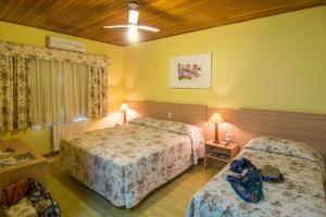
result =
[[[0,55],[0,131],[30,126],[30,61]]]

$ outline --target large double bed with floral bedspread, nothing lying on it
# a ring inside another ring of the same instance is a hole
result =
[[[196,126],[139,117],[125,126],[65,138],[63,167],[115,206],[131,208],[203,156]]]

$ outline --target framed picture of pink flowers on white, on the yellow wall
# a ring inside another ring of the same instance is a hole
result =
[[[171,88],[211,88],[212,53],[171,59]]]

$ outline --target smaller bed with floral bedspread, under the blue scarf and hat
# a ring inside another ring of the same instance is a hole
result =
[[[258,168],[277,167],[281,183],[263,183],[264,199],[259,203],[242,201],[231,189],[226,176],[229,165],[197,192],[187,209],[188,217],[288,216],[325,217],[325,164],[311,146],[286,139],[253,139],[236,158],[249,158]]]

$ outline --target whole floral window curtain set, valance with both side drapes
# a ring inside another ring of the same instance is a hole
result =
[[[108,112],[106,56],[0,41],[0,131],[30,126],[30,61],[57,61],[88,66],[88,117]]]

